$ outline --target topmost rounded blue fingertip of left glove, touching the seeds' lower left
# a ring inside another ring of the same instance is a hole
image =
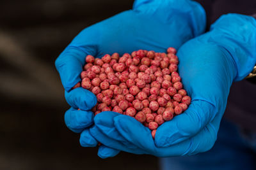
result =
[[[97,97],[82,87],[65,91],[65,99],[70,106],[81,110],[91,110],[97,103]]]

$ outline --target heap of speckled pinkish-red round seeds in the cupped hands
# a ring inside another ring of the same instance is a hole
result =
[[[81,86],[97,96],[95,115],[102,111],[129,115],[148,127],[154,138],[159,125],[185,111],[191,102],[177,73],[176,50],[170,47],[167,52],[138,50],[101,59],[87,55],[82,81],[73,89]]]

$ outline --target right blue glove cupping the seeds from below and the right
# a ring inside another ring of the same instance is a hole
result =
[[[179,73],[192,101],[188,110],[164,122],[155,140],[150,130],[127,115],[106,112],[90,129],[111,148],[157,157],[193,155],[211,149],[233,81],[242,80],[256,63],[256,20],[245,15],[223,15],[211,31],[184,44]],[[81,138],[83,141],[83,138]]]

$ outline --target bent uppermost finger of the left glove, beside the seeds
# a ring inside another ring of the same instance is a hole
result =
[[[77,82],[81,81],[85,57],[89,53],[76,46],[68,46],[56,59],[55,67],[60,73],[62,85],[70,91]]]

